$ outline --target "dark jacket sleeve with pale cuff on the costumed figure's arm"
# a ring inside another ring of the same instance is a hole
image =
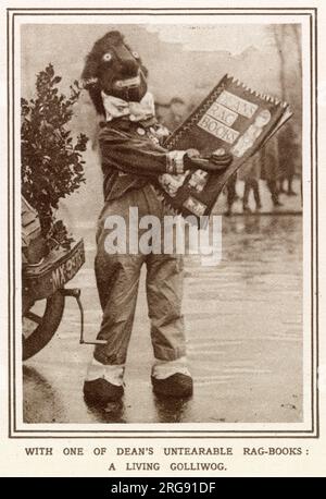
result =
[[[168,151],[146,136],[130,137],[113,129],[102,129],[99,144],[103,166],[145,177],[183,173],[185,150]]]

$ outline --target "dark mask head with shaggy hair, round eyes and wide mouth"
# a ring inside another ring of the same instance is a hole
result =
[[[105,115],[101,92],[139,102],[147,93],[147,69],[120,32],[109,32],[93,45],[82,74],[97,112]]]

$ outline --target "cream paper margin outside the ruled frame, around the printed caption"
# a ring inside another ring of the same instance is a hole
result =
[[[33,3],[33,7],[42,7],[41,2]],[[185,8],[196,8],[199,7],[197,2],[179,2],[178,7]],[[227,8],[252,8],[252,2],[228,2]],[[319,338],[318,338],[318,356],[319,356],[319,366],[322,374],[319,382],[319,404],[318,404],[318,427],[319,431],[317,436],[308,437],[308,438],[259,438],[258,435],[252,435],[251,438],[208,438],[200,436],[196,438],[177,438],[176,435],[168,427],[168,434],[164,438],[150,437],[149,435],[143,435],[141,438],[127,437],[126,435],[120,437],[118,439],[113,438],[113,435],[110,438],[97,438],[97,435],[93,434],[90,437],[86,438],[41,438],[39,435],[38,438],[24,438],[23,435],[17,438],[9,437],[9,418],[8,418],[8,409],[9,409],[9,391],[8,387],[10,381],[8,379],[8,223],[7,223],[7,214],[8,214],[8,178],[7,178],[7,76],[5,76],[5,66],[7,66],[7,53],[4,50],[5,47],[5,29],[7,29],[7,20],[4,7],[10,8],[29,8],[29,2],[10,2],[7,5],[2,4],[1,9],[1,36],[2,36],[2,47],[1,50],[1,178],[2,182],[0,183],[1,194],[1,210],[0,210],[0,222],[1,222],[1,253],[0,253],[0,264],[1,264],[1,315],[0,315],[0,326],[2,331],[1,338],[1,378],[0,378],[0,395],[1,395],[1,437],[0,437],[0,474],[2,476],[155,476],[155,475],[172,475],[173,473],[168,468],[168,463],[171,461],[186,462],[186,461],[205,461],[205,462],[224,462],[226,471],[216,472],[216,476],[325,476],[325,462],[326,462],[326,438],[325,438],[325,426],[326,426],[326,350],[325,350],[325,336],[323,331],[325,330],[325,312],[323,307],[323,296],[325,296],[325,263],[323,261],[323,256],[325,255],[325,227],[323,220],[324,212],[324,190],[326,188],[325,172],[323,171],[323,163],[325,158],[325,144],[322,137],[325,136],[325,106],[326,106],[326,75],[325,75],[325,63],[323,63],[323,51],[322,47],[325,44],[323,39],[324,26],[326,23],[326,9],[323,7],[322,1],[310,2],[288,2],[288,5],[291,8],[317,8],[317,23],[318,23],[318,178],[317,178],[317,192],[318,192],[318,214],[319,214],[319,226],[318,226],[318,254],[319,254],[319,265],[318,265],[318,285],[319,285]],[[47,4],[48,8],[57,7],[54,3]],[[76,7],[80,8],[80,2],[66,2],[65,8]],[[83,2],[83,7],[90,7],[87,2]],[[98,2],[98,8],[106,8],[105,2]],[[127,8],[129,7],[126,2],[112,2],[111,7],[116,8]],[[135,7],[133,4],[133,7]],[[138,2],[137,7],[150,7],[147,2]],[[173,2],[156,2],[155,8],[159,7],[174,7]],[[203,5],[200,4],[202,8]],[[213,2],[205,2],[204,7],[215,7]],[[266,2],[261,1],[256,4],[259,8],[283,8],[283,2]],[[294,15],[294,12],[293,12]],[[325,37],[324,37],[325,38]],[[316,179],[316,175],[315,175]],[[305,234],[308,238],[309,232]],[[309,269],[306,269],[309,271]],[[315,352],[316,353],[316,352]],[[324,374],[323,374],[324,373]],[[20,389],[20,387],[18,387]],[[184,426],[184,425],[180,425]],[[204,425],[203,425],[204,426]],[[268,425],[266,425],[268,426]],[[271,425],[269,425],[271,426]],[[204,430],[204,428],[202,428]],[[271,429],[266,428],[266,431]],[[26,457],[25,447],[52,447],[53,455],[49,457]],[[75,457],[65,457],[63,455],[64,448],[76,448],[83,447],[85,449],[84,455]],[[153,448],[153,457],[134,457],[121,458],[116,455],[116,448],[120,447],[137,447],[137,448]],[[163,447],[231,447],[234,449],[234,455],[231,457],[208,457],[208,458],[191,458],[191,457],[174,457],[166,458],[163,455]],[[269,455],[252,455],[243,457],[243,447],[249,448],[302,448],[301,455],[293,457],[269,457]],[[103,457],[95,457],[95,448],[106,448],[106,451]],[[149,471],[137,471],[137,472],[127,472],[125,470],[125,462],[160,462],[161,470],[159,472],[149,472]],[[108,467],[110,463],[115,463],[116,472],[109,472]],[[178,472],[175,473],[175,476],[204,476],[204,472]],[[212,473],[208,473],[209,476],[212,476]]]

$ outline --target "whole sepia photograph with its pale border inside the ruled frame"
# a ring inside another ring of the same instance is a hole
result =
[[[190,14],[12,20],[13,434],[316,433],[310,15]]]

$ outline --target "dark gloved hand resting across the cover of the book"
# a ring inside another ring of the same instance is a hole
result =
[[[201,169],[209,172],[225,170],[233,162],[233,156],[224,149],[216,149],[211,156],[201,156],[197,149],[188,149],[185,157],[186,169]]]

